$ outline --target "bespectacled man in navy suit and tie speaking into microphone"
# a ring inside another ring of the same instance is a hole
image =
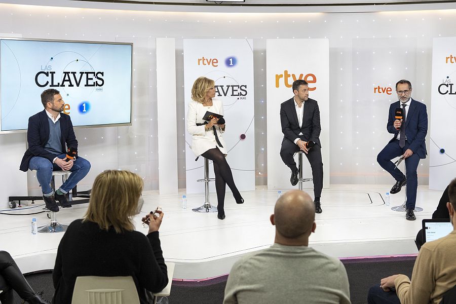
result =
[[[416,168],[420,159],[426,158],[425,138],[428,133],[428,113],[426,105],[410,97],[412,92],[411,83],[407,80],[400,80],[396,84],[398,101],[390,105],[387,130],[394,134],[394,137],[378,154],[377,162],[383,169],[388,171],[396,183],[391,188],[391,194],[401,191],[401,187],[407,184],[407,202],[405,218],[415,220],[416,188],[418,177]],[[396,108],[402,108],[403,119],[397,120]],[[402,156],[405,158],[405,175],[391,161]]]

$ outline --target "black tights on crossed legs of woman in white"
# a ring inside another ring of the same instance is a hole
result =
[[[233,173],[231,172],[230,165],[226,162],[226,158],[218,148],[207,150],[201,155],[213,162],[214,173],[215,173],[215,191],[217,192],[217,209],[218,214],[225,214],[223,205],[225,202],[225,188],[228,185],[233,192],[233,197],[236,201],[241,200],[241,194],[236,187],[233,179]]]

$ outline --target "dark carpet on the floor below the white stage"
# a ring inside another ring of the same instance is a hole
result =
[[[350,281],[352,303],[364,304],[369,288],[380,284],[382,278],[394,274],[411,277],[415,257],[349,259],[342,262]],[[169,304],[221,304],[227,277],[222,276],[201,282],[173,281],[171,295],[168,297]],[[35,291],[43,291],[45,299],[52,298],[54,288],[50,272],[30,274],[26,279]],[[21,302],[16,294],[15,304]]]

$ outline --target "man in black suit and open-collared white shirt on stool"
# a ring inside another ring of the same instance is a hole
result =
[[[309,98],[309,85],[305,80],[296,80],[292,85],[294,97],[280,105],[280,122],[284,134],[280,157],[291,169],[290,182],[298,182],[298,169],[293,155],[304,151],[312,168],[314,181],[315,212],[321,213],[321,189],[323,188],[323,162],[320,143],[320,109],[317,101]],[[302,176],[301,176],[302,177]]]

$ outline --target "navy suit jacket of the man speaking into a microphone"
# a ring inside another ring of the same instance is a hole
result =
[[[390,105],[390,114],[388,116],[387,130],[394,134],[394,137],[389,141],[396,140],[399,130],[393,126],[396,108],[401,107],[400,101],[393,102]],[[407,111],[405,120],[405,136],[409,143],[408,148],[416,153],[421,159],[426,158],[428,154],[426,151],[426,134],[428,133],[428,113],[426,111],[426,104],[416,101],[413,98],[410,101],[410,107],[405,108]]]

